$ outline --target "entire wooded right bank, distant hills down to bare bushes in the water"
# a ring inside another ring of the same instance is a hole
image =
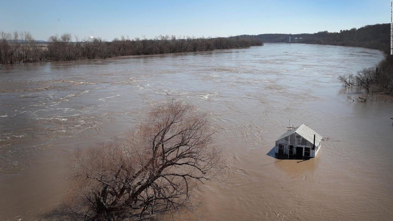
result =
[[[255,37],[263,42],[285,42],[288,34],[241,35]],[[300,39],[301,38],[301,39]],[[356,74],[338,76],[344,87],[354,87],[365,95],[349,99],[358,102],[372,100],[374,94],[393,95],[393,55],[390,55],[390,24],[366,25],[361,28],[340,30],[340,32],[320,31],[314,34],[291,35],[291,43],[325,44],[377,49],[385,53],[385,58],[373,67],[363,68]],[[369,96],[371,94],[371,97]]]

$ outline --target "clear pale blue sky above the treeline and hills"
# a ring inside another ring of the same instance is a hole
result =
[[[121,35],[227,37],[390,23],[390,0],[0,1],[0,30],[30,31],[36,40],[65,32],[110,41]]]

